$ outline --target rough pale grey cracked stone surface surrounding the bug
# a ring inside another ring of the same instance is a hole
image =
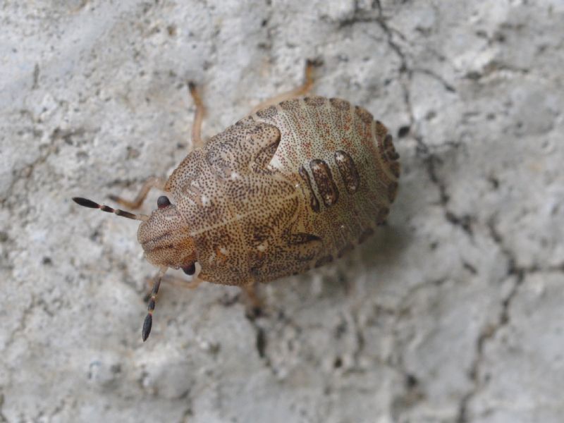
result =
[[[4,1],[0,422],[562,422],[563,21],[561,0]],[[70,197],[171,173],[186,80],[213,135],[312,57],[317,94],[398,135],[388,226],[263,286],[254,321],[236,288],[165,284],[143,344],[137,224]]]

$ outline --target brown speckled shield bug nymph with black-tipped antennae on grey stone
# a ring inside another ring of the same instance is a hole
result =
[[[396,197],[400,166],[386,127],[343,99],[303,97],[312,87],[307,61],[302,86],[257,106],[209,141],[200,136],[204,106],[196,105],[192,145],[168,180],[149,178],[161,195],[150,216],[82,197],[73,200],[141,221],[137,239],[154,278],[142,339],[147,340],[161,278],[168,268],[201,281],[242,288],[319,267],[362,243],[384,223]],[[170,199],[169,199],[170,197]]]

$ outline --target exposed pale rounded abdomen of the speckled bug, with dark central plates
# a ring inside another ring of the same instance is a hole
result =
[[[301,192],[296,228],[324,243],[313,266],[341,257],[385,221],[398,189],[398,154],[368,111],[341,99],[305,97],[251,118],[281,132],[270,166]]]

